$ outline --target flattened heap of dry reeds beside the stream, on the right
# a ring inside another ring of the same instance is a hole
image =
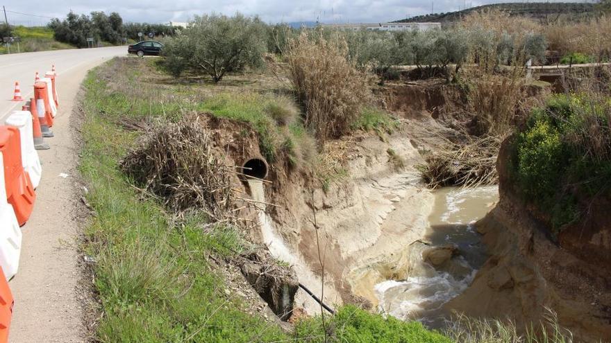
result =
[[[425,182],[431,188],[440,186],[483,186],[496,184],[496,157],[503,139],[498,136],[472,137],[464,135],[464,142],[439,147],[426,157],[421,166]]]

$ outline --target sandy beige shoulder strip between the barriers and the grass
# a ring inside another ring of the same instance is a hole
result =
[[[97,58],[65,73],[58,70],[60,107],[52,128],[56,137],[47,139],[51,150],[39,151],[42,181],[33,214],[22,227],[19,272],[10,281],[15,297],[10,342],[85,341],[75,239],[83,220],[78,216],[81,200],[74,141],[78,132],[70,124],[85,74],[103,60]]]

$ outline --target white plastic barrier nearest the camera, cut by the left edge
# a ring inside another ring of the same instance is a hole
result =
[[[2,153],[0,152],[0,267],[4,270],[4,276],[8,280],[17,274],[17,269],[19,268],[19,255],[22,249],[22,230],[19,229],[15,211],[6,202],[4,186],[4,165]],[[0,280],[1,282],[3,280]]]

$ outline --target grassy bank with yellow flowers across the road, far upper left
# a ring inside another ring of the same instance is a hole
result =
[[[34,51],[49,51],[60,49],[74,49],[74,46],[62,42],[57,42],[53,38],[53,30],[47,27],[26,27],[15,26],[12,30],[12,35],[21,37],[22,42],[19,42],[19,51],[22,53]],[[10,53],[17,52],[17,43],[10,46]],[[8,53],[6,44],[0,47],[0,53]]]

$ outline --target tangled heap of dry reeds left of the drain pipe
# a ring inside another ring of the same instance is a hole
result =
[[[209,132],[197,116],[160,123],[122,161],[135,183],[176,211],[201,209],[227,221],[232,209],[230,168],[212,152]]]

